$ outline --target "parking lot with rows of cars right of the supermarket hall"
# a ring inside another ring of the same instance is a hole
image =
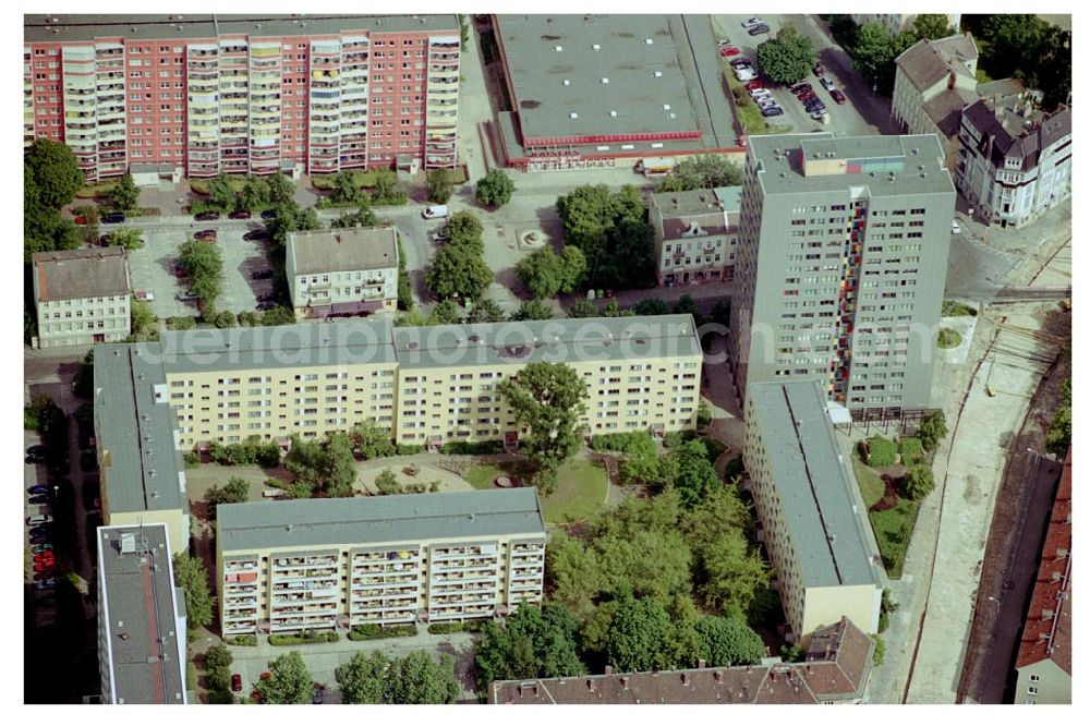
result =
[[[767,34],[750,36],[742,23],[752,17],[752,14],[741,15],[712,15],[712,27],[715,29],[718,40],[729,39],[730,45],[740,49],[741,56],[749,58],[754,69],[759,72],[759,78],[764,86],[772,92],[776,102],[784,109],[784,116],[773,117],[770,122],[775,124],[790,124],[792,132],[827,131],[837,136],[872,135],[876,133],[887,133],[889,131],[888,118],[875,118],[873,93],[862,90],[865,87],[858,73],[850,68],[850,59],[845,63],[847,56],[844,51],[832,46],[832,43],[822,33],[813,17],[810,15],[761,15],[761,19],[770,27]],[[825,68],[825,76],[833,82],[847,96],[847,102],[838,105],[829,96],[829,93],[821,86],[819,78],[813,74],[807,74],[804,83],[813,86],[813,93],[825,105],[828,112],[828,123],[822,124],[810,118],[795,94],[787,86],[773,84],[767,77],[760,74],[760,66],[756,62],[756,48],[765,40],[775,38],[776,33],[785,23],[792,23],[801,35],[811,38],[818,62]],[[724,61],[738,58],[724,58]],[[865,94],[867,98],[860,98]],[[862,102],[865,101],[865,102]],[[888,105],[888,101],[886,101]],[[881,116],[887,117],[888,113]],[[869,118],[868,118],[869,117]]]

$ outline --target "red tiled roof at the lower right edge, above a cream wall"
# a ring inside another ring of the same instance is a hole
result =
[[[1016,668],[1051,658],[1071,673],[1071,452],[1044,535],[1041,567],[1030,600]]]

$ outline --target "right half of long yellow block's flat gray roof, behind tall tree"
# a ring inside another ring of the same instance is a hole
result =
[[[701,354],[692,315],[404,327],[393,342],[402,370]]]

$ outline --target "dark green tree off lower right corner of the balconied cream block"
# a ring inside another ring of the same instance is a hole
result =
[[[579,622],[564,605],[519,605],[502,625],[486,622],[474,654],[477,683],[579,676]]]

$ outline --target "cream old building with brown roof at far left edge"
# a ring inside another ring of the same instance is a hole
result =
[[[37,252],[33,263],[38,348],[129,337],[131,283],[122,247]]]

